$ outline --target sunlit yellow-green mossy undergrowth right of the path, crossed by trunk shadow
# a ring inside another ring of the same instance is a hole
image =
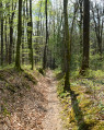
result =
[[[74,72],[70,93],[63,93],[63,79],[59,80],[57,93],[62,104],[62,120],[67,129],[104,130],[104,72],[88,70],[85,76]]]

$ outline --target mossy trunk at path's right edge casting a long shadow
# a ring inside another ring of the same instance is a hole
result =
[[[70,90],[69,73],[70,73],[70,39],[69,39],[69,27],[68,27],[68,0],[63,0],[63,44],[65,44],[65,91]]]

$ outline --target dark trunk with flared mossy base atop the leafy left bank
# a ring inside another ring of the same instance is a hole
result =
[[[15,68],[18,70],[21,70],[21,62],[20,62],[21,37],[22,37],[22,0],[19,0],[18,45],[16,45],[16,57],[15,57]]]

